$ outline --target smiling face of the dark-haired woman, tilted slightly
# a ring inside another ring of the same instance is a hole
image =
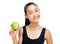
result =
[[[26,12],[27,12],[26,18],[28,18],[30,20],[30,22],[38,22],[39,21],[40,10],[36,5],[34,5],[34,4],[29,5],[26,8]]]

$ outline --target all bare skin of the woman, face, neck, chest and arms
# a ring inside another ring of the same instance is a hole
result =
[[[27,10],[27,15],[25,15],[25,18],[28,18],[30,20],[30,24],[26,26],[27,36],[32,40],[38,39],[43,28],[42,26],[39,25],[40,10],[34,4],[28,6],[26,10]],[[22,44],[23,27],[20,27],[17,31],[11,29],[9,33],[12,37],[13,44]],[[17,33],[18,33],[18,41],[16,38]],[[53,44],[52,36],[49,29],[46,29],[45,31],[44,39],[46,40],[47,44]]]

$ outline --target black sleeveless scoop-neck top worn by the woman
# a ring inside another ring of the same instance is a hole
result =
[[[45,28],[42,28],[41,35],[38,39],[30,39],[27,36],[26,27],[23,27],[23,41],[22,44],[44,44],[44,35],[45,35]]]

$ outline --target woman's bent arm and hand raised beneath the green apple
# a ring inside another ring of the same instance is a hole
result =
[[[12,40],[13,40],[13,44],[22,44],[22,31],[23,31],[22,28],[19,28],[16,31],[14,31],[13,29],[9,31],[10,36],[12,37]],[[16,37],[17,33],[18,33],[18,41]]]

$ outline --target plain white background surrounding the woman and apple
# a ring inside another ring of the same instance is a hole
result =
[[[53,43],[60,44],[59,0],[0,0],[0,44],[13,44],[9,35],[10,25],[16,21],[24,26],[24,6],[35,2],[40,8],[40,25],[50,30]]]

